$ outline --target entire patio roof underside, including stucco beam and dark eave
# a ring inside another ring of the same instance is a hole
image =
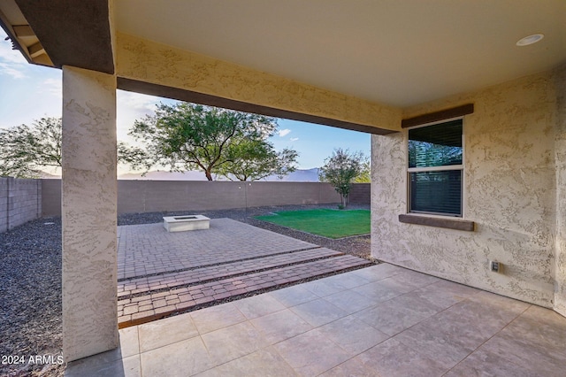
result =
[[[389,123],[403,108],[566,63],[563,0],[4,0],[0,23],[34,64],[116,74],[126,90],[378,134],[401,129]],[[530,34],[545,37],[516,46]],[[154,49],[161,55],[132,73],[118,35],[162,46]],[[185,60],[175,65],[169,53]],[[163,72],[145,77],[148,64]]]

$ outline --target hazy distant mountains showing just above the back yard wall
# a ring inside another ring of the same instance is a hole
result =
[[[203,172],[187,171],[180,172],[148,172],[142,177],[142,173],[125,173],[118,176],[119,180],[140,180],[140,181],[206,181]],[[224,177],[215,177],[216,181],[228,181]],[[262,181],[287,181],[287,182],[317,182],[318,168],[298,169],[289,173],[282,179],[272,175]]]

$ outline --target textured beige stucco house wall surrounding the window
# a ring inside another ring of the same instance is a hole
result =
[[[557,72],[406,109],[410,118],[474,103],[464,118],[464,219],[474,232],[400,223],[407,136],[372,135],[372,256],[553,307]],[[490,259],[502,273],[488,271]]]

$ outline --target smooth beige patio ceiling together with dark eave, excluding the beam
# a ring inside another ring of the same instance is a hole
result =
[[[27,19],[34,28],[46,55],[31,61],[109,72],[104,3],[8,0],[0,16],[28,58],[37,41],[19,38],[13,26]],[[118,33],[401,108],[566,62],[563,0],[112,3]],[[545,37],[516,46],[532,34]],[[72,50],[65,41],[75,41]]]

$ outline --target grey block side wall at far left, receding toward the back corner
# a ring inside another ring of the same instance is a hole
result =
[[[42,217],[42,181],[0,178],[0,232]]]

